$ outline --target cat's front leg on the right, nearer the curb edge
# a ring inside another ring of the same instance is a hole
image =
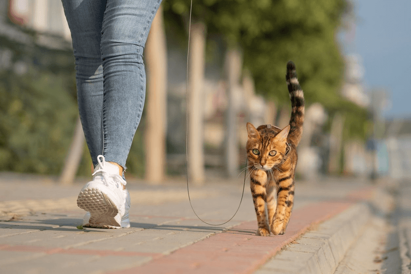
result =
[[[286,227],[284,226],[285,211],[287,208],[288,196],[290,195],[291,188],[293,189],[293,185],[293,178],[289,174],[282,174],[281,177],[278,178],[277,208],[271,225],[271,232],[274,235],[284,234]]]

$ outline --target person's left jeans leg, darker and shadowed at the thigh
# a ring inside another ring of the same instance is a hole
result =
[[[78,109],[94,166],[103,151],[101,28],[105,0],[63,0],[76,64]]]

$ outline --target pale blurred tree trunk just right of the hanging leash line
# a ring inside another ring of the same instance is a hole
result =
[[[203,149],[203,88],[204,57],[206,54],[206,25],[196,22],[191,25],[189,56],[188,98],[188,171],[194,184],[204,182]]]

